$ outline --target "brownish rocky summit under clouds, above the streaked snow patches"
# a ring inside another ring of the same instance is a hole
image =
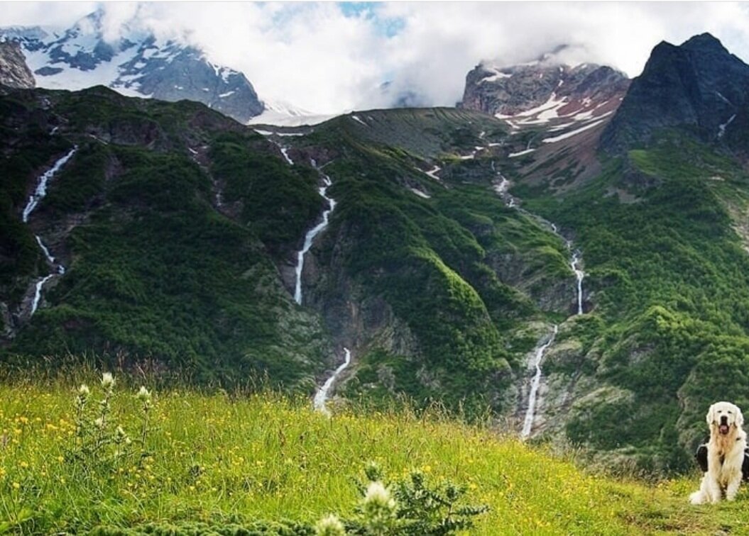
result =
[[[480,64],[466,76],[461,105],[508,117],[553,99],[576,108],[600,105],[624,96],[628,85],[623,73],[596,64],[570,67],[549,59],[512,67]]]

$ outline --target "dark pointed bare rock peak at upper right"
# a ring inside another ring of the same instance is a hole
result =
[[[705,141],[735,140],[746,123],[749,66],[710,34],[652,50],[601,137],[610,152],[644,144],[657,129],[688,127]],[[730,135],[731,134],[731,135]]]

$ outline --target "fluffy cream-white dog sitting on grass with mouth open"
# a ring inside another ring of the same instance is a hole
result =
[[[719,502],[724,491],[726,499],[733,501],[742,483],[742,463],[747,446],[747,434],[742,429],[742,410],[730,402],[716,402],[707,411],[707,424],[710,427],[707,472],[700,490],[689,496],[693,505]]]

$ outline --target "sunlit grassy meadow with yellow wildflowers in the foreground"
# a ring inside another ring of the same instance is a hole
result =
[[[97,391],[97,389],[94,389]],[[94,394],[97,394],[96,392]],[[491,507],[472,534],[711,534],[745,523],[736,505],[694,509],[695,478],[658,486],[587,475],[512,437],[433,412],[327,419],[309,401],[274,395],[163,392],[155,398],[142,466],[107,470],[68,461],[74,389],[0,385],[0,517],[22,533],[86,532],[149,522],[317,520],[348,514],[369,460],[386,474],[422,469],[465,484]],[[112,423],[138,436],[138,402],[116,389]],[[16,522],[20,522],[17,524]]]

